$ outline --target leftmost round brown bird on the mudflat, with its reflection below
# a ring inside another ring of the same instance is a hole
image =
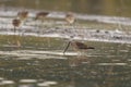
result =
[[[15,32],[16,32],[16,28],[20,27],[21,23],[22,23],[22,22],[21,22],[21,20],[19,20],[19,18],[12,20],[12,25],[14,26],[14,34],[15,34]],[[14,39],[15,39],[16,46],[20,47],[20,46],[21,46],[21,42],[20,42],[20,40],[17,39],[16,36],[14,36]]]

